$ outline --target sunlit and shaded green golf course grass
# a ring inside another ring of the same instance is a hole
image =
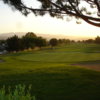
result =
[[[0,87],[32,84],[36,100],[100,100],[100,72],[74,66],[99,62],[100,46],[69,44],[0,56]]]

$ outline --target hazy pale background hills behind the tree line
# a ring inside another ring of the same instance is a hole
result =
[[[10,32],[10,33],[1,33],[0,34],[0,40],[5,40],[8,37],[12,37],[14,35],[17,35],[18,37],[22,37],[23,35],[25,35],[27,32]],[[80,37],[80,36],[67,36],[67,35],[63,35],[63,34],[38,34],[35,33],[37,36],[41,36],[47,40],[51,39],[51,38],[57,38],[57,39],[71,39],[71,40],[87,40],[89,38],[93,39],[93,37]]]

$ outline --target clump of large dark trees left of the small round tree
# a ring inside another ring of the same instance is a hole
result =
[[[6,40],[7,51],[19,51],[24,49],[33,49],[34,47],[41,48],[42,46],[46,46],[47,42],[42,37],[37,37],[34,33],[28,32],[22,38],[18,36],[10,37]]]

